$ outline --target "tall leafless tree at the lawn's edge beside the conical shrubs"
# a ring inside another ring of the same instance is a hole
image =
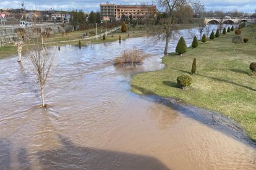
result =
[[[164,54],[168,54],[169,39],[177,31],[177,23],[179,15],[182,12],[186,13],[187,6],[198,3],[198,1],[190,0],[155,0],[159,7],[166,10],[167,18],[163,18],[160,29],[154,31],[153,37],[155,41],[165,39]],[[181,12],[182,11],[182,12]],[[166,24],[164,24],[166,23]]]

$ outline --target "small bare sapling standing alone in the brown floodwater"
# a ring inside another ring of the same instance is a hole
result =
[[[53,67],[55,54],[54,52],[49,52],[49,46],[46,43],[47,36],[33,31],[27,34],[27,38],[30,39],[30,41],[27,41],[29,45],[27,46],[28,58],[33,64],[32,70],[41,89],[41,106],[45,107],[45,84]]]

